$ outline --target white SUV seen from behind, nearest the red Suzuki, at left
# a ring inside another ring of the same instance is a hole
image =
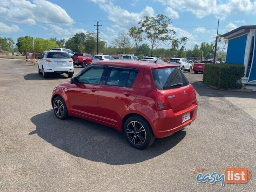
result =
[[[48,74],[74,74],[73,60],[66,51],[46,50],[38,57],[38,74],[47,78]]]

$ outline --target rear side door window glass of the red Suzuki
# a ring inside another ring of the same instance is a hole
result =
[[[106,85],[131,87],[137,76],[135,70],[129,69],[110,69]]]

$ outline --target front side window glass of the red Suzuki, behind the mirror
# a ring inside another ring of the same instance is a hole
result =
[[[102,77],[103,72],[104,72],[104,68],[102,67],[90,68],[79,77],[78,83],[98,85],[100,84],[100,79]]]

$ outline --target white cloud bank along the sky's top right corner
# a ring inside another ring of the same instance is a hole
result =
[[[223,3],[219,0],[157,0],[164,6],[170,6],[182,12],[192,12],[196,17],[203,18],[210,14],[256,14],[256,1],[228,0]],[[210,10],[210,11],[209,11]]]

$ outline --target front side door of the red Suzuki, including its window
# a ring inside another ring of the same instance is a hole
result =
[[[82,116],[98,117],[98,92],[104,66],[90,67],[78,78],[77,84],[71,84],[68,88],[68,102],[70,111]]]

